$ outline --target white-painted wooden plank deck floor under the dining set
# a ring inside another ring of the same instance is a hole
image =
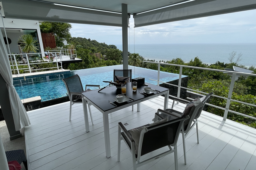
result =
[[[94,125],[85,132],[82,104],[73,105],[69,121],[69,102],[29,111],[31,125],[25,128],[29,168],[36,170],[128,170],[132,169],[131,154],[121,143],[121,161],[117,162],[117,124],[128,123],[132,129],[152,123],[154,113],[163,108],[163,97],[141,103],[141,111],[128,107],[109,115],[111,157],[106,158],[103,118],[91,107]],[[169,100],[171,107],[172,100]],[[175,106],[183,110],[184,105]],[[90,116],[89,116],[90,118]],[[199,138],[196,129],[186,138],[187,165],[184,165],[182,136],[178,140],[178,169],[256,169],[256,130],[239,123],[203,112],[199,119]],[[166,148],[162,148],[163,150]],[[159,151],[160,151],[159,150]],[[153,154],[156,154],[157,152]],[[149,154],[145,155],[149,156]],[[138,169],[174,169],[174,155],[169,154]]]

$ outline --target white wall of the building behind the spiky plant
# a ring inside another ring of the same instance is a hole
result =
[[[10,19],[10,18],[3,18],[3,19],[4,19],[5,29],[17,29],[17,30],[13,30],[14,33],[7,33],[7,37],[11,39],[11,44],[10,44],[11,52],[19,53],[19,49],[17,47],[17,45],[18,45],[17,41],[18,41],[18,38],[21,35],[23,35],[22,30],[19,33],[19,29],[34,29],[34,30],[37,30],[37,35],[38,35],[38,39],[39,39],[39,43],[40,43],[40,51],[44,52],[43,41],[42,41],[38,21],[19,20],[19,19]],[[2,21],[0,21],[0,27],[3,28],[4,26],[3,26]],[[5,33],[2,32],[2,34],[3,34],[3,37],[5,37]],[[14,36],[16,36],[16,38]],[[7,45],[6,45],[6,49],[8,51]]]

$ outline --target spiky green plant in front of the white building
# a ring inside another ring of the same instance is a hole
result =
[[[22,49],[22,51],[24,51],[25,53],[30,53],[30,52],[37,52],[38,47],[35,46],[37,45],[37,40],[34,39],[34,37],[30,34],[25,34],[22,35],[20,37],[20,39],[18,39],[18,43],[20,43],[20,47]]]

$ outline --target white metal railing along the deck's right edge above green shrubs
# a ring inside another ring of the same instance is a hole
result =
[[[238,103],[247,104],[247,105],[249,105],[249,106],[254,106],[254,107],[256,107],[255,104],[245,103],[245,102],[242,102],[242,101],[238,101],[238,100],[233,100],[233,99],[231,99],[231,96],[232,96],[232,93],[233,93],[234,84],[235,84],[236,75],[239,74],[239,75],[243,75],[243,76],[256,76],[256,74],[252,74],[252,73],[240,73],[240,72],[226,71],[226,70],[217,70],[217,69],[209,69],[209,68],[203,68],[203,67],[184,66],[184,65],[178,65],[178,64],[159,63],[159,62],[153,62],[153,61],[143,61],[143,62],[145,62],[145,63],[158,64],[157,80],[154,80],[154,79],[150,79],[150,80],[157,81],[157,85],[158,85],[158,86],[159,86],[159,82],[161,82],[161,83],[164,83],[164,84],[173,85],[173,86],[175,86],[175,87],[178,87],[178,93],[177,93],[177,97],[178,97],[178,98],[180,97],[180,88],[184,88],[184,89],[187,89],[187,90],[190,90],[190,91],[196,91],[196,92],[200,92],[200,93],[203,93],[203,94],[207,94],[207,93],[202,92],[202,91],[198,91],[198,90],[194,90],[194,89],[190,89],[190,88],[186,88],[186,87],[182,87],[182,86],[181,86],[181,76],[182,76],[182,68],[183,68],[183,67],[187,67],[187,68],[191,68],[191,69],[201,69],[201,70],[209,70],[209,71],[216,71],[216,72],[231,73],[231,74],[232,74],[232,79],[231,79],[231,83],[230,83],[230,87],[229,87],[228,97],[226,98],[226,97],[221,97],[221,96],[218,96],[218,95],[213,95],[213,96],[215,96],[215,97],[218,97],[218,98],[222,98],[222,99],[227,100],[227,103],[226,103],[225,108],[222,108],[222,107],[219,107],[219,106],[215,106],[215,105],[212,105],[212,104],[208,104],[208,103],[206,103],[206,104],[209,105],[209,106],[213,106],[213,107],[216,107],[216,108],[225,110],[224,116],[223,116],[223,120],[226,120],[226,119],[227,119],[228,112],[235,113],[235,114],[242,115],[242,116],[245,116],[245,117],[248,117],[248,118],[251,118],[251,119],[255,119],[255,120],[256,120],[256,118],[254,118],[254,117],[252,117],[252,116],[248,116],[248,115],[245,115],[245,114],[242,114],[242,113],[239,113],[239,112],[235,112],[235,111],[229,110],[230,101],[235,101],[235,102],[238,102]],[[160,80],[160,65],[161,65],[161,64],[162,64],[162,65],[168,65],[168,66],[177,66],[177,67],[180,67],[178,85],[169,84],[169,83],[166,83],[166,82],[159,81],[159,80]],[[171,96],[171,95],[169,95],[169,96]],[[173,97],[173,96],[171,96],[171,97]]]

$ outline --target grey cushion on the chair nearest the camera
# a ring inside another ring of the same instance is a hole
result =
[[[135,128],[135,129],[131,129],[129,132],[131,133],[132,135],[132,138],[135,142],[135,153],[138,154],[138,148],[139,148],[139,137],[141,135],[141,131],[143,129],[145,129],[146,127],[149,127],[149,126],[154,126],[154,125],[157,125],[159,123],[163,123],[163,122],[167,122],[168,121],[168,118],[166,117],[165,119],[163,120],[159,120],[157,122],[154,122],[154,123],[151,123],[150,125],[148,126],[142,126],[140,128]]]

